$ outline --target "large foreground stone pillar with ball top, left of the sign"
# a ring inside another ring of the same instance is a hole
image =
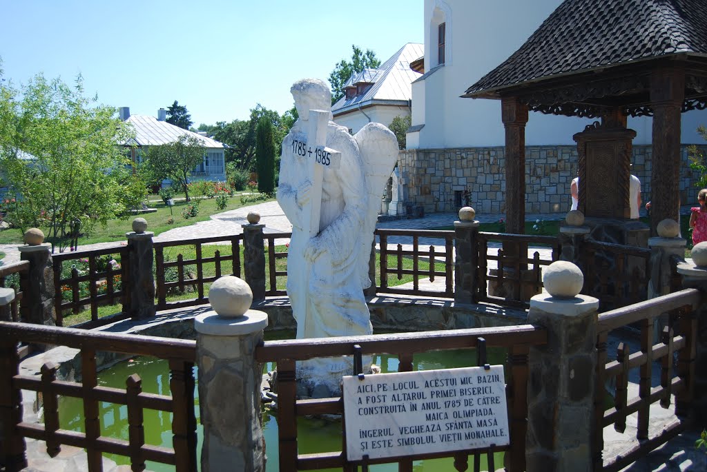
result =
[[[264,471],[262,365],[255,362],[255,348],[267,314],[248,310],[250,287],[230,275],[211,285],[209,301],[214,310],[194,319],[204,425],[201,471]]]

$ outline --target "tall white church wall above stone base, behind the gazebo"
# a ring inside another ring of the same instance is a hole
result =
[[[562,0],[425,0],[426,78],[412,85],[409,149],[498,146],[505,143],[498,100],[460,98],[469,85],[508,59]],[[446,25],[445,63],[438,66],[437,25]],[[595,119],[530,113],[527,145],[573,145],[572,135]],[[696,133],[707,111],[682,115],[682,143],[701,143]],[[629,119],[635,144],[650,144],[650,117]]]

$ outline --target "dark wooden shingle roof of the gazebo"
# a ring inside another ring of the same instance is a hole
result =
[[[566,0],[463,96],[677,54],[707,63],[707,0]]]

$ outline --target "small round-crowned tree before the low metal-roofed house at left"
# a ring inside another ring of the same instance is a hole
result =
[[[204,160],[206,147],[194,136],[181,135],[173,143],[148,147],[144,166],[153,178],[170,179],[184,188],[189,202],[189,175]]]

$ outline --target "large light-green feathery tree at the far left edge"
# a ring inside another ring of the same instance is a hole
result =
[[[119,145],[132,127],[82,85],[41,74],[20,90],[0,81],[0,169],[16,200],[6,219],[39,227],[60,251],[79,231],[127,217],[147,193]]]

